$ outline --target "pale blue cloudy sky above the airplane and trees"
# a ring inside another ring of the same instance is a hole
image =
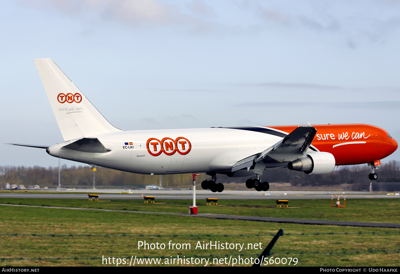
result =
[[[399,0],[4,0],[0,26],[0,166],[58,165],[5,144],[63,141],[33,58],[124,130],[365,123],[400,140]]]

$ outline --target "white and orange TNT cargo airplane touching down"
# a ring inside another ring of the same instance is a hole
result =
[[[246,187],[266,191],[264,170],[289,168],[328,174],[335,166],[368,164],[398,147],[390,134],[368,124],[249,126],[125,131],[112,126],[49,58],[34,59],[64,142],[44,148],[51,156],[140,174],[206,173],[201,186],[222,192],[216,174],[250,177]]]

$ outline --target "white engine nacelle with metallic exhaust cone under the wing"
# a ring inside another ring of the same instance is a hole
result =
[[[304,171],[307,174],[328,174],[335,168],[335,157],[329,152],[313,152],[306,157],[288,163],[291,170]]]

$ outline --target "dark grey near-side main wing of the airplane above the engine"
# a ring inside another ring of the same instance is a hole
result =
[[[308,150],[316,132],[317,130],[313,126],[298,126],[266,150],[236,162],[231,171],[234,172],[242,168],[250,170],[251,166],[266,158],[267,155],[279,162],[285,162],[285,159],[288,160],[288,158],[298,158]]]

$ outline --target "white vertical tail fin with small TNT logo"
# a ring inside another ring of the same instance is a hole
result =
[[[120,131],[89,102],[51,59],[34,59],[64,141]]]

